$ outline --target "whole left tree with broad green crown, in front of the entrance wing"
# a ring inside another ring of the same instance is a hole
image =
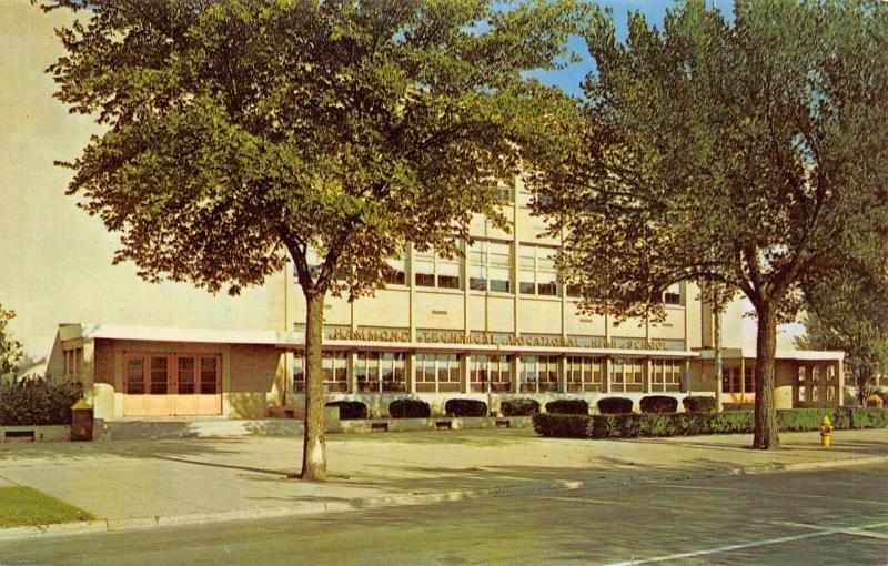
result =
[[[122,233],[115,263],[236,294],[292,261],[305,479],[326,477],[325,296],[373,293],[406,243],[460,253],[473,214],[505,228],[516,140],[564,97],[524,73],[571,59],[583,10],[493,4],[98,0],[59,31],[57,97],[104,127],[67,164],[68,192]]]

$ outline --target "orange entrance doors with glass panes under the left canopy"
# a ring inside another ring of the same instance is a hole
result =
[[[127,354],[123,415],[219,415],[222,356],[218,354]]]

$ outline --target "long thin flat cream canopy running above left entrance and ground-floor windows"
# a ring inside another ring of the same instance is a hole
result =
[[[226,329],[178,329],[170,326],[128,326],[118,324],[61,324],[61,341],[78,340],[133,340],[145,342],[191,342],[204,344],[254,344],[299,350],[305,345],[301,332],[226,330]],[[375,342],[363,340],[324,340],[324,346],[342,350],[422,350],[426,352],[477,352],[491,354],[536,355],[610,355],[645,357],[698,357],[699,352],[689,350],[643,350],[571,346],[532,346],[509,344],[457,344],[443,342]]]

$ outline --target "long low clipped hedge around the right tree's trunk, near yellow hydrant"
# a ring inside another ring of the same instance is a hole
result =
[[[793,408],[777,411],[779,431],[817,431],[828,416],[836,428],[885,428],[884,408]],[[751,433],[751,411],[724,413],[672,413],[623,415],[534,415],[534,429],[543,436],[573,438],[635,438],[650,436],[693,436],[702,434]]]

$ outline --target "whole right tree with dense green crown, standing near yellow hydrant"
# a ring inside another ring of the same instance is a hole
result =
[[[551,127],[537,209],[564,231],[585,307],[660,316],[677,281],[743,292],[758,319],[755,448],[779,447],[776,327],[836,269],[885,277],[888,4],[702,0],[663,29],[610,13],[585,33],[583,108]],[[565,132],[571,132],[565,135]]]

